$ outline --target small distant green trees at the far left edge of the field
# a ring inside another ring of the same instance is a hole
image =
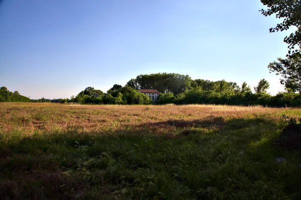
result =
[[[18,91],[10,92],[6,87],[1,87],[0,102],[31,102],[31,100],[20,95]]]

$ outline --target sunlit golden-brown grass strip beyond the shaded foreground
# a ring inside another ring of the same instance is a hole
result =
[[[249,116],[275,116],[279,108],[225,105],[66,105],[54,103],[0,103],[0,127],[4,132],[19,130],[24,135],[35,131],[110,133],[150,130],[173,133],[175,128],[215,127],[225,120]]]

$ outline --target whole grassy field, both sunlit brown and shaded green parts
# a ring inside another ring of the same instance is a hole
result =
[[[300,199],[283,114],[301,109],[1,103],[0,199]]]

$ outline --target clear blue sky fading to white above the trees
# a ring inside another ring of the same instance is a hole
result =
[[[1,0],[0,0],[1,2]],[[0,87],[31,99],[106,92],[140,74],[179,73],[283,91],[267,65],[288,32],[269,33],[258,0],[3,0]]]

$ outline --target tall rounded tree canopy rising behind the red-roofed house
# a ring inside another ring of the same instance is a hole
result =
[[[158,73],[150,75],[138,75],[126,83],[127,86],[139,89],[157,89],[161,93],[172,92],[179,94],[189,89],[192,79],[188,75],[175,73]]]

